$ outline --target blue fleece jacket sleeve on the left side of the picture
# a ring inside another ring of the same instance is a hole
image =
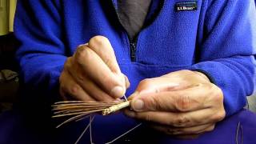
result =
[[[50,92],[58,86],[66,61],[58,2],[18,0],[14,34],[20,43],[16,58],[25,86],[38,94]]]

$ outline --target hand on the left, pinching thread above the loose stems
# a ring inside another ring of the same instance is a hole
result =
[[[60,94],[65,100],[86,102],[113,102],[130,86],[118,66],[110,41],[103,36],[95,36],[78,46],[74,55],[67,58],[59,82]]]

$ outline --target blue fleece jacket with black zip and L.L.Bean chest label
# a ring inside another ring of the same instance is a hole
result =
[[[118,22],[116,2],[99,0],[19,0],[14,34],[27,95],[58,97],[58,77],[67,57],[95,35],[110,39],[118,64],[130,79],[130,95],[144,78],[175,70],[198,70],[224,94],[226,114],[234,114],[253,92],[256,11],[253,0],[153,1],[146,26],[130,40]],[[177,6],[197,6],[177,10]],[[158,10],[158,7],[160,10]],[[36,91],[31,93],[31,91]],[[29,94],[30,93],[30,94]],[[25,95],[26,95],[25,94]],[[32,97],[31,97],[32,98]],[[122,114],[95,118],[106,142],[134,125]],[[100,138],[99,138],[100,139]]]

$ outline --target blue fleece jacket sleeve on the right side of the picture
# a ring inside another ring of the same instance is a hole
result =
[[[254,90],[255,14],[254,0],[208,2],[198,42],[200,58],[192,70],[206,74],[222,89],[226,116],[242,109]]]

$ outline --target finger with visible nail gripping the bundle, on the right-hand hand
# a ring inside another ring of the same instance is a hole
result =
[[[131,101],[131,107],[135,111],[172,111],[189,112],[201,110],[211,106],[213,97],[218,94],[213,92],[210,84],[201,84],[186,90],[164,91],[151,94],[138,94]]]

